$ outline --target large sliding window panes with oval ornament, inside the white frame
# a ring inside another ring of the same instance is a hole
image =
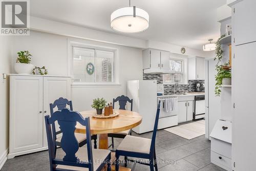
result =
[[[72,46],[74,82],[113,83],[114,50]]]

